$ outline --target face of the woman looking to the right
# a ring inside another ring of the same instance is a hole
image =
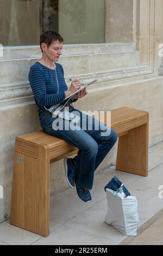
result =
[[[45,47],[46,57],[52,62],[58,62],[62,50],[62,42],[59,41],[53,42],[49,47]]]

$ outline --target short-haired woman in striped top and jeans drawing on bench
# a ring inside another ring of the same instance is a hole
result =
[[[29,82],[38,108],[42,130],[49,135],[64,139],[68,144],[79,149],[76,157],[64,160],[66,179],[71,187],[76,185],[79,198],[89,202],[91,201],[89,190],[92,189],[94,172],[116,143],[117,134],[106,125],[104,132],[101,129],[101,122],[70,105],[87,94],[86,88],[74,95],[66,105],[70,113],[78,113],[80,117],[76,126],[67,119],[62,119],[64,123],[62,129],[54,125],[54,121],[59,121],[61,118],[54,117],[48,109],[66,102],[65,98],[81,86],[81,82],[75,79],[68,89],[64,70],[61,64],[57,63],[61,56],[63,41],[62,36],[54,31],[47,31],[40,36],[42,57],[30,68]],[[89,123],[91,123],[91,129]]]

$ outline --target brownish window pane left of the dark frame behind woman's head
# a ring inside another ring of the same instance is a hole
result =
[[[40,36],[39,0],[0,0],[0,43],[35,45]]]

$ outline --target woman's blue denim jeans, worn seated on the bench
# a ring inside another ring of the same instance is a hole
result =
[[[70,109],[70,112],[73,111],[78,112],[80,115],[80,124],[78,124],[78,129],[76,130],[54,130],[52,124],[56,118],[53,118],[52,114],[46,110],[41,113],[39,112],[40,124],[42,130],[49,135],[64,139],[68,144],[79,149],[78,155],[73,159],[74,166],[76,166],[75,179],[83,188],[91,190],[94,172],[116,143],[117,134],[106,125],[105,130],[101,129],[101,122],[89,115],[83,114],[78,109],[74,109],[74,107]],[[90,118],[92,119],[91,130],[88,127],[88,120]],[[64,120],[64,124],[67,125],[67,122],[71,123],[71,121]],[[107,136],[101,134],[104,131],[108,134]]]

